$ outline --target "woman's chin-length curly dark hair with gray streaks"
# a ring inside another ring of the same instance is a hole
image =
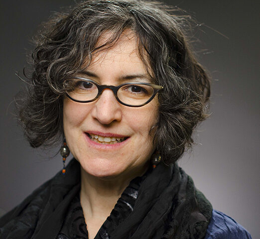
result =
[[[192,145],[192,132],[207,117],[210,81],[191,50],[189,16],[144,0],[87,0],[69,13],[56,13],[35,37],[30,87],[19,119],[32,147],[58,142],[63,133],[64,79],[88,67],[94,52],[109,49],[125,30],[136,36],[138,53],[158,94],[159,119],[150,133],[165,163]],[[105,32],[112,36],[97,47]],[[86,65],[87,61],[87,65]]]

